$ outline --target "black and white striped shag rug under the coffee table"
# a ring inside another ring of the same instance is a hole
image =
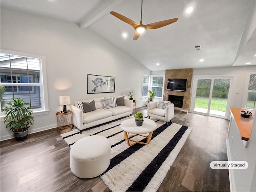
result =
[[[127,118],[86,130],[82,134],[74,129],[61,136],[70,147],[80,138],[89,135],[101,135],[110,140],[110,166],[100,176],[110,190],[156,191],[192,129],[175,123],[166,126],[164,121],[150,118],[155,120],[158,126],[150,143],[129,147],[120,128],[120,123]],[[142,142],[146,140],[142,136],[133,139],[143,140]]]

